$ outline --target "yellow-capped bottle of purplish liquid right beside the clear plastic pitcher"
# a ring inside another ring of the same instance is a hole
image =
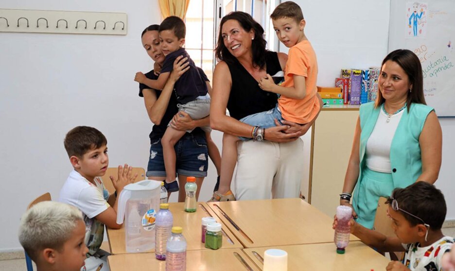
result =
[[[155,221],[155,257],[158,260],[164,261],[166,259],[166,242],[171,236],[173,221],[174,218],[171,211],[169,211],[169,204],[159,204],[159,212]]]

